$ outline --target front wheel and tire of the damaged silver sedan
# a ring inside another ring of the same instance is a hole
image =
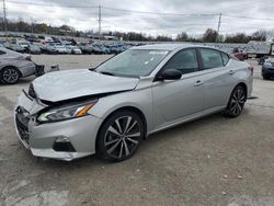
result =
[[[130,158],[145,134],[140,117],[130,111],[114,113],[102,125],[96,139],[96,154],[119,162]]]

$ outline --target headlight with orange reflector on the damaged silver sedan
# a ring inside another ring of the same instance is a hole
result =
[[[84,104],[56,107],[41,113],[37,117],[39,123],[49,123],[77,118],[88,115],[89,110],[96,103],[92,101]]]

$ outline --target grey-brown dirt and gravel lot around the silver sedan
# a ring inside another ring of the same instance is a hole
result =
[[[61,69],[110,56],[34,56]],[[255,61],[250,61],[256,65]],[[274,205],[274,81],[255,68],[233,119],[215,114],[151,136],[121,163],[38,160],[19,142],[12,108],[28,78],[0,85],[0,205]]]

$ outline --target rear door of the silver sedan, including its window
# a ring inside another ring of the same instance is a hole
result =
[[[231,92],[233,71],[226,65],[229,56],[212,48],[199,48],[203,67],[203,88],[205,92],[204,110],[218,110],[226,106]]]

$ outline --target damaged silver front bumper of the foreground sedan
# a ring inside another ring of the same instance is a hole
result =
[[[23,93],[14,111],[19,139],[33,156],[70,161],[95,153],[95,140],[102,123],[101,118],[88,115],[69,121],[38,124],[35,117],[36,104],[35,100],[27,100]],[[56,150],[56,142],[60,144],[62,140],[64,144],[69,142],[73,149]]]

